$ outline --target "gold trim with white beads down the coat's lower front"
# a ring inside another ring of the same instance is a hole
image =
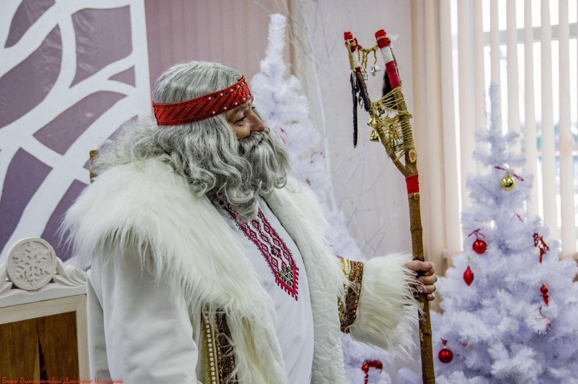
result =
[[[201,318],[203,331],[203,346],[205,347],[205,366],[207,383],[236,383],[236,377],[231,373],[235,369],[235,355],[232,346],[231,332],[224,313],[215,315],[214,327],[210,325],[209,315],[203,310]]]

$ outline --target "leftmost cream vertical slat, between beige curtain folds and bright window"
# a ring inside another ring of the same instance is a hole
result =
[[[455,148],[458,148],[458,137],[455,130],[454,109],[454,74],[452,65],[452,37],[450,0],[440,0],[439,6],[440,27],[440,67],[442,90],[442,126],[443,126],[443,163],[444,163],[444,200],[446,211],[446,247],[449,255],[461,252],[461,189],[460,189],[460,162]]]

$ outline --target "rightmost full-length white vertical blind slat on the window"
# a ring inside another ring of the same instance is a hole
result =
[[[572,132],[570,131],[570,55],[568,25],[568,0],[558,3],[558,43],[560,49],[560,215],[562,257],[576,253],[574,216],[574,181],[572,162]]]

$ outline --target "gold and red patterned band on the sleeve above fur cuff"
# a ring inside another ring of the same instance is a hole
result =
[[[360,303],[363,263],[342,259],[341,266],[343,274],[351,282],[351,285],[346,286],[345,302],[339,300],[339,320],[341,331],[349,333],[349,327],[355,321],[355,314]]]

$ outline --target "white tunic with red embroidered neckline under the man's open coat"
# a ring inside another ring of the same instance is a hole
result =
[[[307,274],[299,248],[265,200],[253,220],[243,223],[229,205],[221,215],[238,235],[262,286],[275,305],[273,319],[291,383],[311,382],[313,314]]]

